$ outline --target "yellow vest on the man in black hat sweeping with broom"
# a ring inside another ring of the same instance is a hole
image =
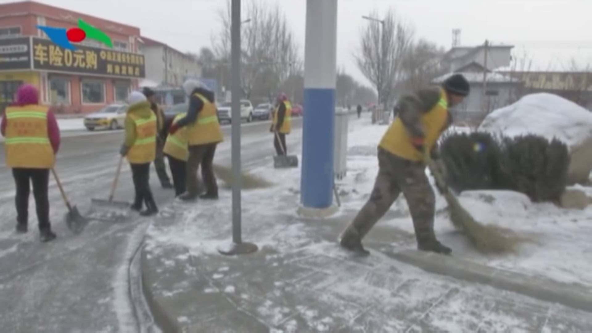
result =
[[[446,92],[440,89],[440,100],[431,110],[422,114],[420,122],[424,129],[424,147],[431,151],[448,123]],[[411,143],[411,136],[399,117],[388,127],[378,146],[409,161],[423,161],[422,153]]]

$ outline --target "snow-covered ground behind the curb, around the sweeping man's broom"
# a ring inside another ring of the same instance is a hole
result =
[[[368,200],[378,172],[376,146],[385,129],[386,126],[366,126],[350,133],[348,175],[337,181],[342,194],[347,194],[342,199],[344,208],[359,210]],[[459,127],[451,130],[466,131]],[[431,177],[430,181],[433,182]],[[592,188],[578,189],[592,196]],[[511,191],[462,193],[461,203],[477,220],[510,228],[532,240],[520,246],[516,254],[493,257],[456,244],[459,239],[454,236],[447,214],[438,214],[445,210],[446,200],[436,190],[435,193],[436,233],[442,242],[453,247],[455,255],[507,270],[592,286],[592,208],[573,210],[551,203],[532,203],[524,194]],[[391,211],[404,216],[382,220],[379,225],[414,232],[403,196],[395,201]]]

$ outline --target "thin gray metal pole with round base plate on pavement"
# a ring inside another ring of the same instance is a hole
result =
[[[231,159],[232,159],[232,244],[230,248],[218,249],[221,254],[247,254],[257,251],[257,245],[243,242],[241,231],[241,197],[242,187],[240,172],[240,0],[232,0],[231,5]]]

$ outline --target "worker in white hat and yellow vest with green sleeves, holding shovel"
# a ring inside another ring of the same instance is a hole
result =
[[[131,209],[139,211],[141,216],[152,216],[158,213],[150,190],[150,164],[156,158],[156,116],[146,96],[139,91],[131,92],[128,103],[126,139],[120,153],[130,162],[136,190]],[[145,210],[141,210],[143,204],[146,204]]]

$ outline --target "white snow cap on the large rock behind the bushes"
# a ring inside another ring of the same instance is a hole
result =
[[[553,94],[526,95],[489,114],[479,129],[505,136],[526,134],[559,139],[573,149],[592,137],[592,113]]]

